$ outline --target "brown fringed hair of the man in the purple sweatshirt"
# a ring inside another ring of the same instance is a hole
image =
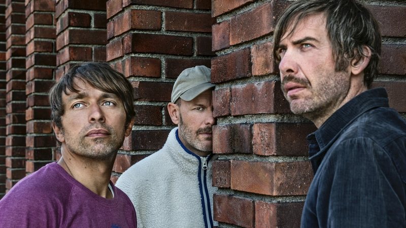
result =
[[[75,89],[74,79],[81,79],[92,87],[107,93],[117,95],[124,105],[126,113],[125,126],[128,126],[135,116],[134,95],[131,83],[123,74],[104,62],[89,62],[71,67],[65,75],[51,88],[49,102],[51,104],[51,119],[61,128],[61,116],[64,113],[62,92],[67,94],[79,92]]]

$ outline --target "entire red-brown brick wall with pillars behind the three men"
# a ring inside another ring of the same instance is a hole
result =
[[[91,2],[91,3],[90,3]],[[179,73],[212,68],[214,218],[219,227],[298,227],[313,177],[289,111],[272,34],[286,0],[0,0],[0,198],[59,159],[47,92],[72,65],[108,61],[134,87],[136,123],[112,180],[159,149],[175,126],[166,110]],[[406,2],[363,1],[381,23],[380,75],[406,118]]]

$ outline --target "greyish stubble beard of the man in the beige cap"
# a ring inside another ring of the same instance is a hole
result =
[[[179,116],[179,135],[181,138],[183,138],[190,146],[192,146],[196,150],[200,151],[212,151],[213,150],[213,145],[210,144],[205,144],[204,142],[201,142],[198,139],[198,136],[200,133],[204,132],[212,132],[212,127],[208,126],[205,128],[199,128],[196,132],[193,132],[192,129],[189,128],[189,126],[183,122],[182,116]],[[212,138],[205,138],[205,140],[210,140],[212,141]]]

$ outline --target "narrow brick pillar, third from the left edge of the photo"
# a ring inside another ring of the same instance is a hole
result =
[[[37,171],[52,162],[55,139],[51,129],[48,90],[53,84],[56,65],[54,11],[55,2],[25,1],[26,19],[26,96],[27,109],[25,169]]]

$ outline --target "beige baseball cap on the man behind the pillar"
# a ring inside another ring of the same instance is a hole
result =
[[[179,74],[172,89],[171,102],[175,103],[178,98],[190,101],[200,93],[215,87],[211,84],[211,69],[207,66],[195,66],[187,68]]]

